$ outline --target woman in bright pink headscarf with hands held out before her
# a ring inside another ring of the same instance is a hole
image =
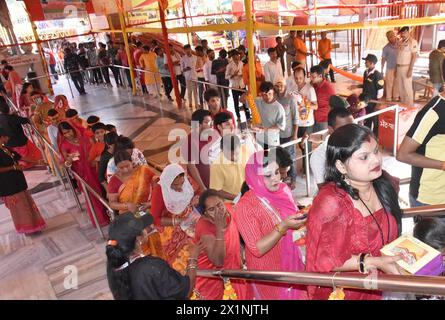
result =
[[[254,153],[246,165],[249,187],[235,208],[236,224],[246,245],[248,270],[304,270],[303,257],[293,242],[292,230],[301,228],[304,216],[282,182],[273,153]],[[305,289],[281,283],[249,281],[256,300],[306,299]]]

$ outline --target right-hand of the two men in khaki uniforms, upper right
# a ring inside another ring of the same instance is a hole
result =
[[[418,45],[409,34],[409,27],[402,27],[399,31],[401,40],[397,50],[397,75],[400,100],[412,106],[414,104],[413,67],[417,59]]]

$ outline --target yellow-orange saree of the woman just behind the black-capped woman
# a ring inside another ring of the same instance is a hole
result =
[[[129,202],[134,204],[150,202],[153,176],[154,173],[146,165],[141,165],[136,168],[131,177],[120,186],[119,202]],[[119,213],[123,213],[123,211],[120,211]],[[148,236],[144,254],[165,260],[159,232],[151,233]]]

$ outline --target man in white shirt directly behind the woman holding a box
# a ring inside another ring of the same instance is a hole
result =
[[[338,128],[354,122],[351,112],[346,108],[334,108],[328,114],[328,135],[323,143],[315,149],[309,160],[312,174],[318,189],[324,183],[325,168],[326,168],[326,150],[328,148],[329,136]]]

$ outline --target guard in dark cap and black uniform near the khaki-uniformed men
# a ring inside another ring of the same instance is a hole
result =
[[[369,100],[378,100],[383,97],[383,88],[385,81],[383,80],[383,75],[376,69],[377,57],[373,54],[368,54],[365,60],[366,71],[363,75],[363,84],[359,87],[363,88],[363,95],[365,95]],[[376,103],[369,102],[366,107],[366,113],[369,114],[374,112]],[[365,126],[371,128],[373,124],[373,132],[377,136],[379,128],[379,117],[375,116],[365,120]]]

